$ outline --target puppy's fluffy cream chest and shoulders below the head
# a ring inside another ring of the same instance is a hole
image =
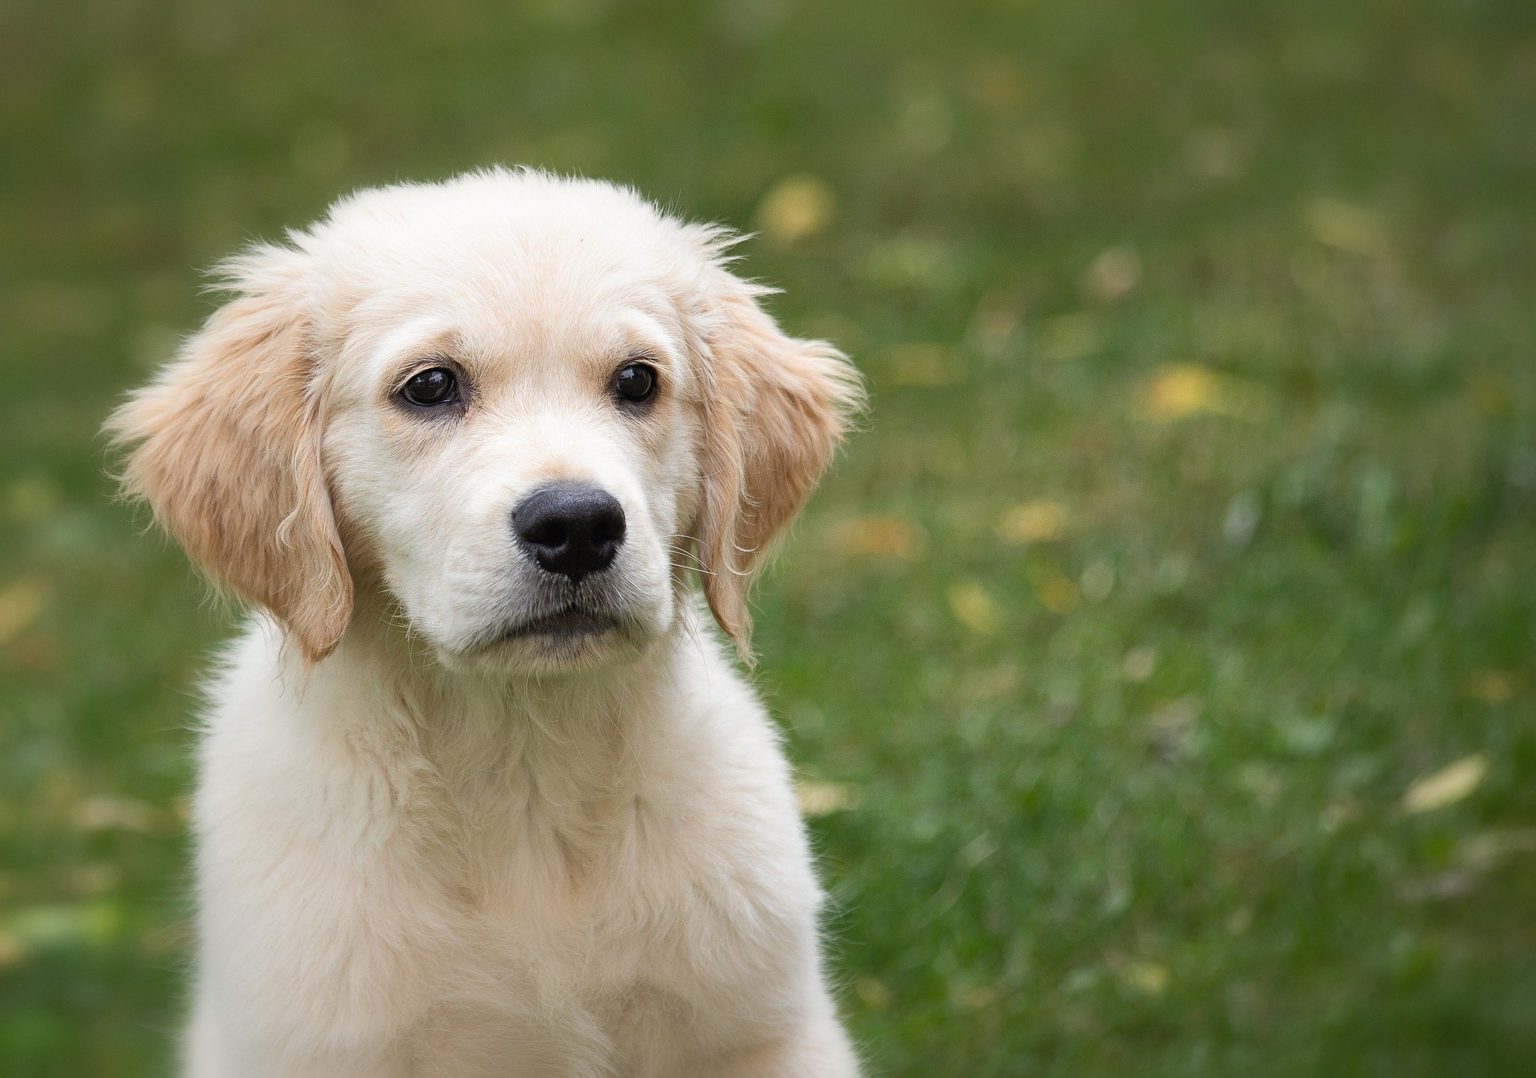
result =
[[[203,987],[261,1001],[252,1043],[323,1015],[442,1073],[687,1073],[803,1006],[817,889],[717,654],[452,700],[369,654],[295,693],[252,634],[204,739],[204,946],[238,983]]]

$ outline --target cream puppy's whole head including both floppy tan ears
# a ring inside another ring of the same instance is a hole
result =
[[[723,232],[496,170],[289,240],[226,266],[233,298],[111,421],[127,491],[215,580],[310,660],[370,605],[453,668],[539,673],[641,654],[696,568],[745,648],[860,392]]]

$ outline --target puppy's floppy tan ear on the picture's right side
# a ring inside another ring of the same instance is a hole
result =
[[[809,498],[863,389],[836,347],[780,332],[757,306],[768,289],[719,264],[705,279],[703,499],[694,537],[710,610],[748,656],[753,577]]]

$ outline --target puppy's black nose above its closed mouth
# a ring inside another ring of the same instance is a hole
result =
[[[558,482],[518,502],[511,531],[541,568],[581,580],[624,545],[624,507],[599,487]]]

